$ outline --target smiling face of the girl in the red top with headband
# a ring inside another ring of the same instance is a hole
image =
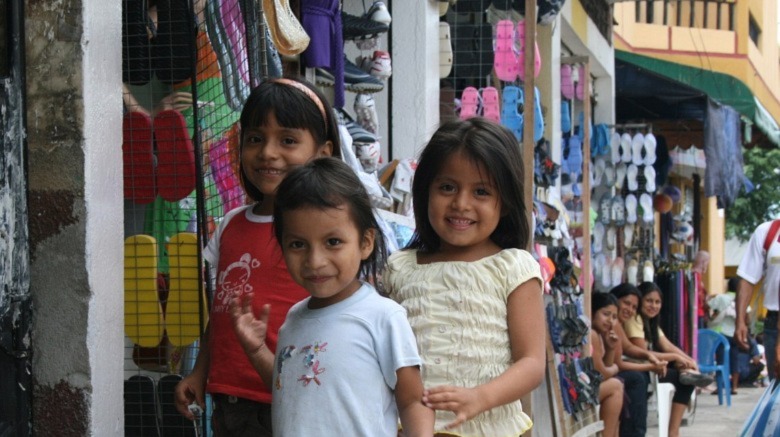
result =
[[[263,194],[259,214],[273,212],[273,196],[279,183],[293,168],[310,159],[330,156],[330,142],[318,145],[306,129],[280,126],[273,113],[266,123],[242,132],[241,167],[247,183]]]

